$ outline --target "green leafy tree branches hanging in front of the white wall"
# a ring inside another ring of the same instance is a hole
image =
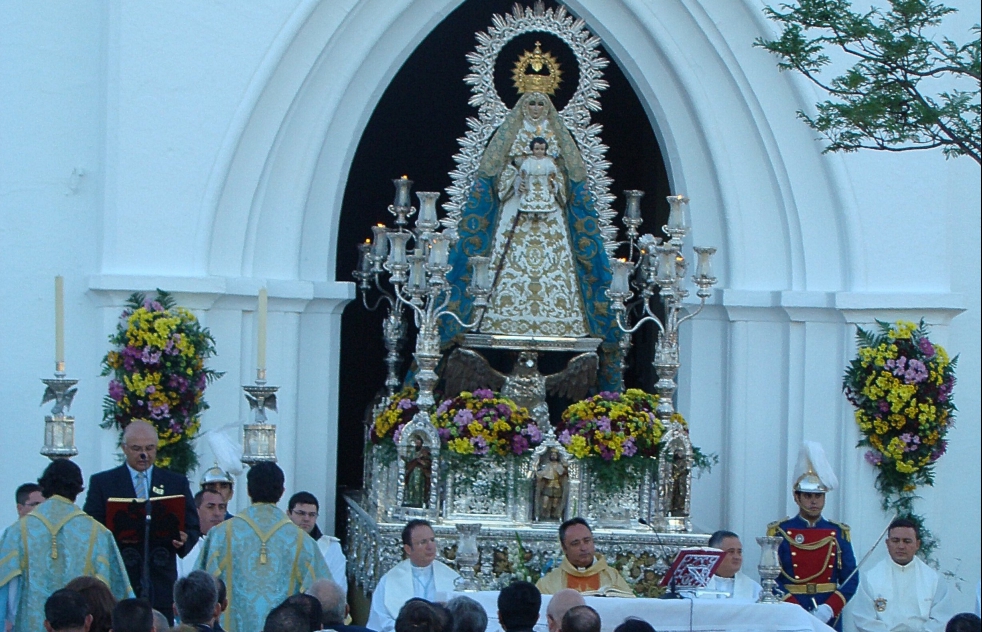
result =
[[[980,162],[980,27],[966,44],[931,33],[955,9],[934,0],[890,0],[888,10],[852,10],[848,0],[799,0],[765,7],[783,28],[756,46],[780,58],[832,99],[812,117],[798,112],[829,142],[826,152],[940,147],[948,158]],[[826,47],[838,49],[831,55]],[[853,65],[831,80],[833,56]]]

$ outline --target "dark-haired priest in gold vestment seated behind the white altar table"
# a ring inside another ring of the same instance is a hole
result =
[[[586,520],[571,518],[559,525],[559,544],[563,547],[563,563],[536,583],[543,595],[572,588],[584,594],[602,595],[610,591],[618,597],[634,596],[621,574],[607,566],[604,556],[597,553]]]

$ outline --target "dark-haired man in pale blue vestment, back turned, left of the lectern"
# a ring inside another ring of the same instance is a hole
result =
[[[75,504],[84,489],[79,467],[52,461],[38,483],[45,501],[0,542],[0,621],[9,616],[15,630],[43,630],[45,600],[81,575],[105,582],[116,599],[133,596],[112,533]]]

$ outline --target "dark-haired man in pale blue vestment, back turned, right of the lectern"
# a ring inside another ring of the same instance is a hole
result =
[[[317,542],[276,506],[283,470],[257,463],[246,481],[252,505],[211,529],[198,557],[198,568],[228,587],[222,626],[229,632],[259,632],[284,599],[333,579]]]

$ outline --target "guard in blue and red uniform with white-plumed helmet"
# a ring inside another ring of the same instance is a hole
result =
[[[777,583],[786,592],[785,601],[841,630],[842,609],[856,592],[859,573],[854,573],[856,557],[849,527],[821,515],[825,494],[838,480],[822,446],[810,441],[801,447],[796,473],[794,496],[801,511],[767,527],[767,535],[783,539],[778,548],[781,574]]]

